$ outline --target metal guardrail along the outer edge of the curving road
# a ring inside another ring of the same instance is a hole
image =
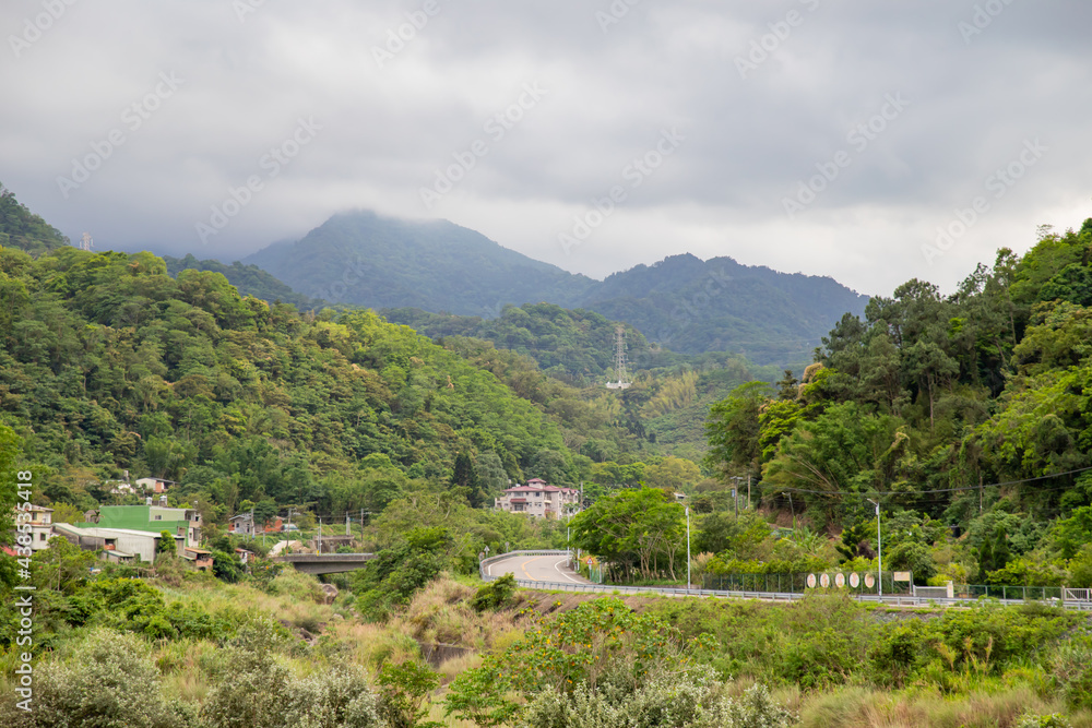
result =
[[[487,574],[486,568],[489,564],[497,563],[498,561],[503,561],[505,559],[510,559],[517,556],[568,556],[568,551],[557,551],[557,550],[541,550],[541,551],[509,551],[508,553],[498,553],[495,557],[488,559],[483,559],[479,573],[482,580],[486,582],[500,578],[500,576],[494,574]],[[699,589],[699,588],[679,588],[679,587],[666,587],[666,586],[620,586],[615,584],[577,584],[577,583],[565,583],[565,582],[538,582],[526,578],[518,578],[515,583],[525,589],[538,589],[543,592],[575,592],[575,593],[597,593],[597,594],[631,594],[631,595],[655,595],[655,596],[669,596],[669,597],[720,597],[725,599],[764,599],[767,601],[795,601],[803,599],[806,593],[802,592],[733,592],[725,589]],[[930,605],[937,605],[942,607],[966,607],[969,605],[976,604],[978,599],[976,598],[961,598],[954,597],[952,599],[947,598],[928,598],[928,597],[915,597],[906,594],[895,594],[895,595],[885,595],[878,596],[875,594],[853,594],[851,595],[857,601],[868,601],[876,604],[893,605],[897,607],[928,607]],[[1026,604],[1024,599],[990,599],[992,601],[998,601],[1004,605],[1022,605]],[[1092,601],[1077,601],[1077,600],[1065,600],[1061,599],[1048,599],[1047,601],[1055,602],[1057,605],[1064,606],[1067,609],[1076,609],[1079,611],[1092,611]]]

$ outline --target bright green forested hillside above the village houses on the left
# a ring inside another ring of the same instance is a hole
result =
[[[217,273],[171,278],[149,253],[4,248],[0,289],[0,420],[54,501],[90,505],[130,469],[219,514],[263,499],[378,509],[412,479],[447,482],[467,453],[480,503],[509,478],[578,481],[581,445],[640,445],[517,355],[476,355],[505,360],[495,374],[372,312],[301,315]]]

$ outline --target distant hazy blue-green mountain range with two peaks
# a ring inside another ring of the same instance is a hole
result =
[[[509,303],[547,302],[625,322],[676,351],[731,350],[758,363],[809,360],[844,313],[860,315],[868,302],[829,277],[691,254],[597,282],[446,220],[370,212],[336,215],[302,240],[270,246],[244,263],[334,302],[487,319]],[[395,317],[419,319],[407,311]]]

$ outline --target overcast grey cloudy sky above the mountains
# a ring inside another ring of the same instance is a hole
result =
[[[1088,0],[4,0],[0,182],[230,262],[353,208],[890,296],[1092,216]],[[1083,89],[1083,91],[1082,91]]]

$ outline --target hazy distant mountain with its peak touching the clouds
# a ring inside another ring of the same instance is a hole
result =
[[[505,303],[573,306],[594,282],[447,220],[335,215],[298,242],[249,258],[297,291],[334,303],[480,314]]]

